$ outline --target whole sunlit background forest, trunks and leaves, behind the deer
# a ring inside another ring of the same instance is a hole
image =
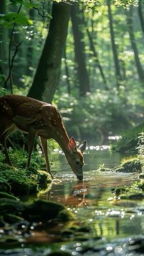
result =
[[[55,104],[76,139],[143,122],[144,1],[0,1],[0,95]]]

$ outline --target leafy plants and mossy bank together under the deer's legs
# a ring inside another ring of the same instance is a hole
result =
[[[51,182],[51,176],[40,170],[40,165],[31,160],[31,166],[26,168],[26,159],[23,153],[10,153],[13,166],[5,164],[4,155],[0,156],[0,191],[13,193],[15,196],[28,196],[37,194],[41,189],[45,189]]]

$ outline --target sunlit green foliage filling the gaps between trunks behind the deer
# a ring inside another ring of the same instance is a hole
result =
[[[7,5],[6,12],[1,13],[0,26],[2,35],[6,31],[7,36],[1,40],[0,47],[4,45],[7,47],[5,51],[2,48],[3,57],[0,53],[0,66],[2,71],[9,71],[9,49],[12,60],[15,47],[22,42],[18,46],[10,78],[12,78],[13,93],[27,95],[48,34],[52,1],[5,0],[5,2]],[[106,1],[79,1],[79,16],[83,20],[83,25],[81,25],[82,41],[84,41],[85,46],[84,54],[91,92],[87,93],[84,98],[79,97],[79,78],[77,78],[73,31],[70,21],[59,87],[54,97],[54,104],[60,109],[68,134],[77,139],[87,137],[90,141],[98,143],[102,143],[109,134],[121,133],[123,130],[142,122],[144,108],[143,83],[139,81],[137,75],[134,51],[131,48],[128,28],[126,27],[126,12],[121,8],[135,6],[138,1],[115,0],[110,1],[110,3],[115,44],[117,45],[122,76],[120,87],[117,87],[115,79]],[[70,1],[69,4],[73,3]],[[137,15],[137,7],[134,7],[133,19],[135,42],[139,49],[140,60],[143,61],[143,34]],[[13,37],[10,38],[9,31],[12,31],[13,27]],[[97,56],[90,47],[87,29],[92,37]],[[12,41],[11,47],[10,40]],[[106,77],[107,90],[99,71],[98,61]],[[4,82],[7,78],[4,71],[2,73],[0,70],[0,95],[10,92],[9,82],[7,85]]]

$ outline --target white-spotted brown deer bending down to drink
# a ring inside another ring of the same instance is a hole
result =
[[[48,158],[48,139],[54,139],[62,148],[71,170],[78,180],[83,180],[83,153],[87,141],[79,147],[74,137],[69,138],[59,111],[52,104],[20,95],[0,97],[0,144],[4,148],[7,164],[12,166],[6,140],[16,130],[28,134],[28,157],[26,167],[30,166],[35,136],[39,136],[45,155],[46,171],[51,175]]]

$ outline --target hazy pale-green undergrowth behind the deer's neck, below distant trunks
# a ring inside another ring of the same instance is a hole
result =
[[[88,137],[91,142],[99,142],[106,134],[120,133],[131,126],[131,106],[118,97],[115,90],[98,89],[95,94],[88,93],[87,97],[77,100],[63,95],[58,106],[69,133],[79,139]]]

